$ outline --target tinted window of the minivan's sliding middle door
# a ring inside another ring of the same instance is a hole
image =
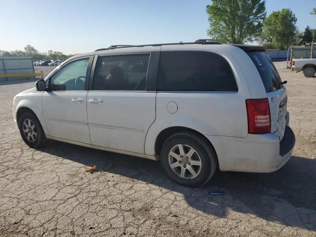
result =
[[[145,90],[149,55],[99,57],[93,90]]]

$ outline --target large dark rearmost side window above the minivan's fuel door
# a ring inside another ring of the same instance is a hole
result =
[[[160,53],[159,91],[237,91],[228,62],[220,55],[203,51]]]

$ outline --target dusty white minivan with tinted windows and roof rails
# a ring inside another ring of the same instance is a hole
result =
[[[76,55],[17,94],[32,148],[46,139],[153,160],[184,186],[221,171],[273,172],[295,135],[284,83],[263,47],[112,45]]]

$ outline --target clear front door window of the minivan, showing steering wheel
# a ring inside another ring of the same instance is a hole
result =
[[[84,90],[88,62],[89,58],[79,59],[61,68],[50,79],[51,90]]]

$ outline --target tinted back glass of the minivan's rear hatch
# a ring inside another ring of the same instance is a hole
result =
[[[268,58],[268,55],[265,52],[251,52],[248,55],[260,74],[266,92],[280,89],[282,87],[281,78],[272,60]]]

